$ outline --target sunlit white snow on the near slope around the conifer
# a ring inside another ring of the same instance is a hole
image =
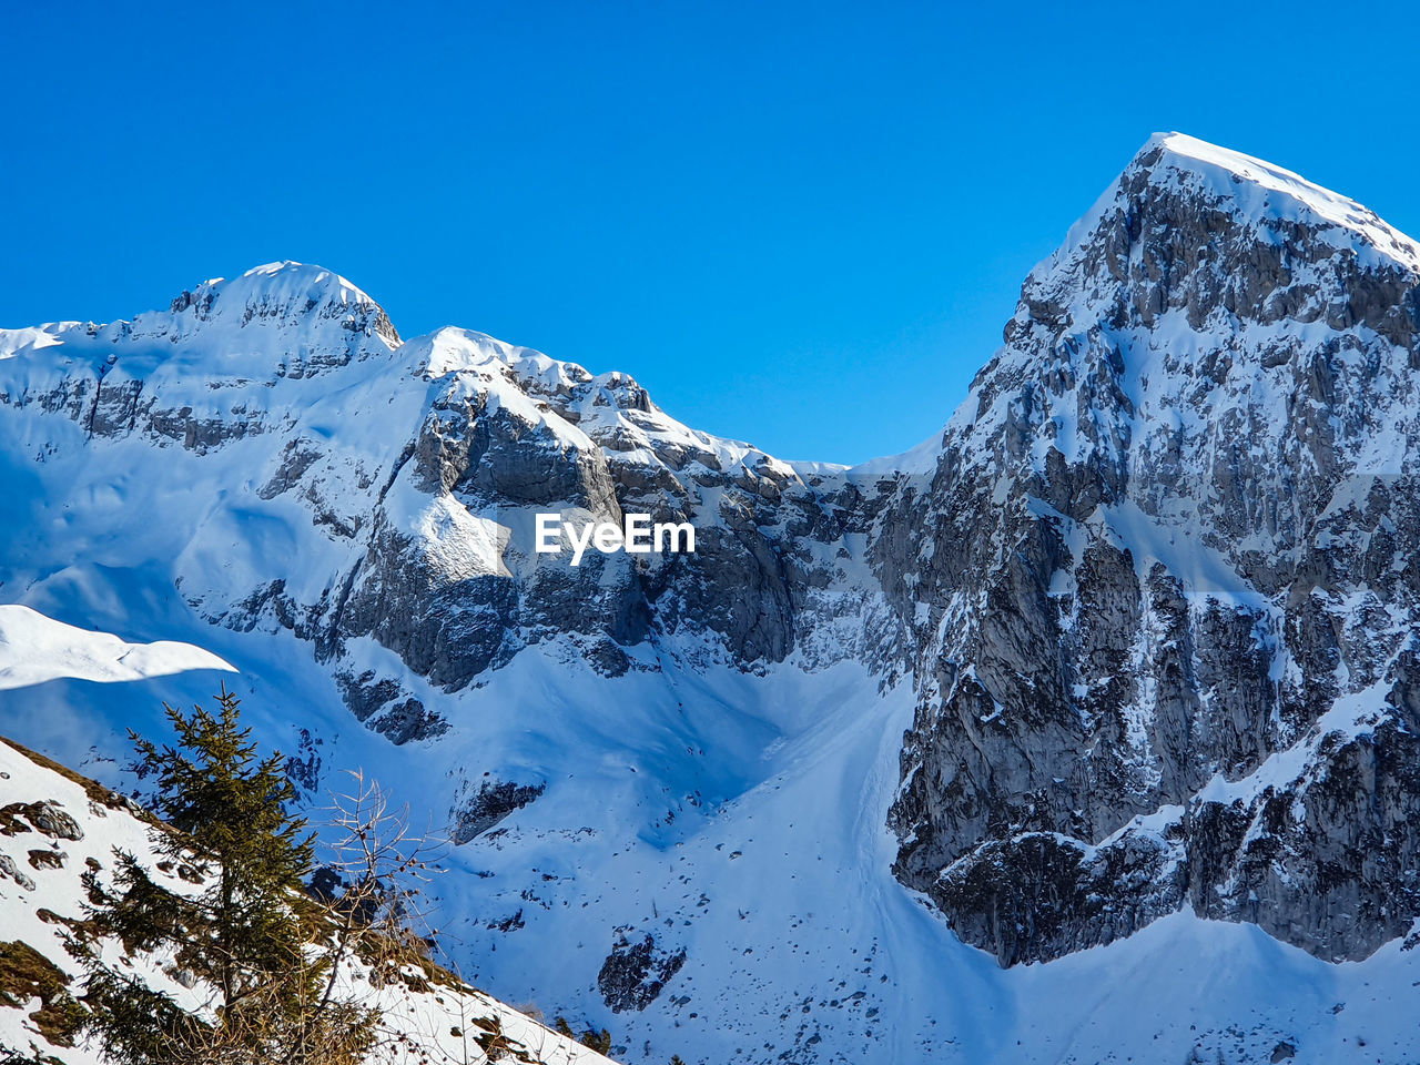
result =
[[[65,922],[84,917],[81,873],[94,863],[99,876],[115,866],[115,849],[142,861],[159,882],[180,888],[176,873],[156,868],[156,829],[135,815],[122,798],[101,784],[47,763],[0,738],[0,809],[9,816],[0,826],[0,950],[16,954],[23,944],[51,967],[53,981],[17,983],[18,967],[0,974],[0,1059],[7,1054],[58,1065],[102,1062],[92,1048],[57,1031],[45,1010],[58,995],[55,984],[81,993],[82,974],[64,950]],[[36,973],[36,966],[28,966]],[[199,1010],[199,990],[187,990],[163,973],[149,976],[178,1001]],[[389,1045],[371,1056],[371,1065],[477,1065],[490,1061],[477,1038],[496,1032],[507,1045],[501,1056],[545,1065],[592,1065],[606,1058],[547,1030],[517,1010],[473,988],[435,985],[430,990],[386,987],[371,991],[359,966],[348,967],[346,994],[362,1003],[378,1001],[383,1010],[383,1041]],[[408,1037],[408,1045],[395,1034]],[[51,1037],[54,1042],[51,1042]],[[44,1055],[43,1058],[40,1055]],[[521,1056],[518,1056],[521,1055]]]

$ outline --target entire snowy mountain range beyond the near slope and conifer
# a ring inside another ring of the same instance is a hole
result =
[[[1154,138],[853,469],[300,264],[0,332],[0,601],[239,672],[51,670],[0,731],[125,784],[226,679],[308,802],[447,826],[463,971],[626,1061],[1420,1061],[1417,264]],[[697,551],[572,568],[540,511]]]

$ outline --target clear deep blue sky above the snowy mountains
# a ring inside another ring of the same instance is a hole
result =
[[[0,325],[321,263],[787,459],[932,435],[1156,129],[1420,234],[1407,4],[7,4]]]

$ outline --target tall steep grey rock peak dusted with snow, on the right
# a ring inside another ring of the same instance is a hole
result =
[[[1004,964],[1186,903],[1356,958],[1420,912],[1420,260],[1294,182],[1146,148],[889,518],[896,869]]]

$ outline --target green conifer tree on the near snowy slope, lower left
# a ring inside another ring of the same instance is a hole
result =
[[[98,939],[78,947],[89,1028],[119,1065],[341,1065],[372,1039],[373,1011],[331,998],[329,957],[311,947],[327,934],[325,912],[302,892],[314,836],[288,812],[281,755],[258,757],[237,706],[223,686],[213,713],[163,706],[175,744],[129,733],[170,826],[159,868],[192,888],[155,880],[131,853],[119,853],[111,888],[85,878],[95,930],[121,940],[131,963],[105,960]],[[143,967],[204,991],[204,1008],[153,987]]]

